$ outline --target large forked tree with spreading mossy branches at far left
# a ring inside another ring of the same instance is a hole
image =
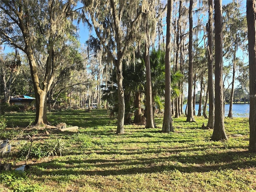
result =
[[[73,16],[75,3],[74,0],[0,2],[1,20],[4,21],[1,38],[28,57],[36,97],[35,124],[48,124],[46,97],[58,65],[56,55],[61,52],[65,38],[69,36],[66,29],[72,26],[72,22],[67,18]],[[44,57],[46,61],[41,63]],[[40,64],[44,69],[42,77]]]

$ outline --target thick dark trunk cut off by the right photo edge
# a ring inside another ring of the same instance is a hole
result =
[[[249,151],[256,152],[256,0],[247,0],[249,78],[250,78],[250,141]]]

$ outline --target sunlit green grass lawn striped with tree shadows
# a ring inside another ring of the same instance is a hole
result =
[[[33,113],[6,114],[8,130],[21,132],[34,120]],[[201,129],[207,119],[173,119],[175,132],[160,133],[163,114],[156,116],[159,128],[125,125],[116,135],[116,120],[106,110],[70,110],[48,113],[53,125],[66,122],[78,132],[27,128],[12,141],[10,162],[24,164],[18,156],[34,135],[32,150],[56,138],[65,142],[62,156],[28,159],[26,172],[0,174],[0,192],[165,192],[165,191],[256,191],[256,154],[248,152],[248,118],[225,118],[227,141],[212,142],[213,130]],[[17,127],[18,126],[18,127]],[[39,149],[38,149],[39,148]],[[14,168],[12,168],[14,169]]]

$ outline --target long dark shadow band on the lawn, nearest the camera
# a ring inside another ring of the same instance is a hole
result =
[[[156,173],[178,170],[184,173],[210,172],[225,169],[255,167],[249,152],[224,152],[211,155],[170,156],[159,158],[135,158],[125,160],[85,159],[53,160],[47,164],[35,164],[42,175],[99,175],[116,176],[123,174]],[[240,160],[244,158],[247,160]],[[45,168],[42,172],[41,168]]]

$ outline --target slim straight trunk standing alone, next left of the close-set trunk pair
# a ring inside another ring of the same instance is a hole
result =
[[[188,67],[188,116],[187,122],[193,122],[194,112],[193,112],[193,0],[190,0],[189,4],[189,44],[188,44],[188,56],[189,56],[189,67]]]

